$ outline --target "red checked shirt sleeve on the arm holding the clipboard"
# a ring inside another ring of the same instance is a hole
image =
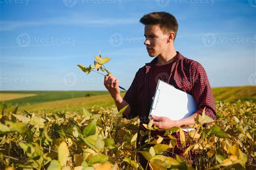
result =
[[[205,108],[205,115],[211,117],[215,121],[216,110],[212,89],[205,69],[200,63],[198,63],[196,68],[192,71],[192,83],[192,95],[198,106],[196,112],[202,115]]]

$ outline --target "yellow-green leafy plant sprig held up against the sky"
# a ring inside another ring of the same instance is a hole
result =
[[[77,66],[80,69],[82,69],[82,71],[85,72],[87,75],[91,72],[95,72],[95,73],[105,76],[105,74],[100,73],[99,70],[101,70],[102,72],[106,72],[107,75],[111,74],[110,70],[107,70],[106,67],[104,66],[104,64],[109,62],[111,60],[111,58],[109,58],[109,57],[102,58],[102,54],[100,54],[100,52],[99,52],[99,56],[95,55],[95,60],[94,60],[93,65],[90,65],[89,67],[85,67],[84,65],[77,65]],[[123,87],[120,87],[120,86],[118,86],[118,87],[120,89],[125,90]]]

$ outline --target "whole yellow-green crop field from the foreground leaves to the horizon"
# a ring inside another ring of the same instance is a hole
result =
[[[255,169],[256,87],[212,90],[215,122],[203,114],[195,130],[157,137],[152,122],[139,132],[138,118],[122,118],[107,91],[2,91],[0,169],[143,169],[138,153],[151,169]]]

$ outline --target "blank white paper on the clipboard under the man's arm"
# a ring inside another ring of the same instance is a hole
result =
[[[190,117],[197,110],[196,101],[192,95],[181,91],[169,83],[158,80],[154,93],[150,115],[169,117],[173,121],[178,121]],[[193,130],[183,128],[184,131]]]

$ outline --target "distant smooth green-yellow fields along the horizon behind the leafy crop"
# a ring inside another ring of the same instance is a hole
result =
[[[215,102],[237,102],[252,101],[256,102],[256,87],[218,87],[212,88]],[[10,93],[9,92],[0,92]],[[1,102],[1,110],[5,105],[5,111],[12,111],[19,104],[18,111],[23,110],[29,112],[65,112],[75,111],[82,112],[82,108],[91,108],[97,104],[97,109],[100,107],[113,107],[114,101],[108,91],[11,91],[15,94],[36,94],[36,96],[16,98],[9,101]],[[124,96],[125,93],[122,93]],[[91,96],[90,96],[91,95]],[[87,97],[86,97],[87,96]]]

